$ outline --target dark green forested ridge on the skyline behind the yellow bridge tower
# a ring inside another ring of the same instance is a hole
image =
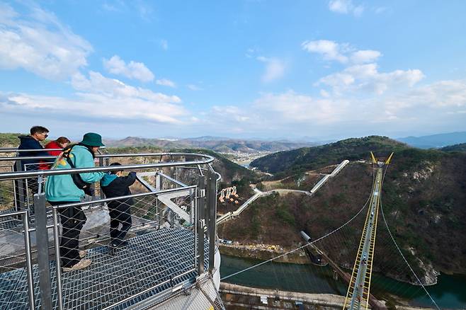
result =
[[[302,171],[339,163],[344,159],[350,161],[368,159],[370,151],[385,156],[392,151],[398,152],[409,148],[407,144],[388,137],[351,138],[319,147],[303,147],[292,151],[280,151],[258,158],[252,161],[250,166],[261,171],[278,173],[278,176],[290,176]]]

